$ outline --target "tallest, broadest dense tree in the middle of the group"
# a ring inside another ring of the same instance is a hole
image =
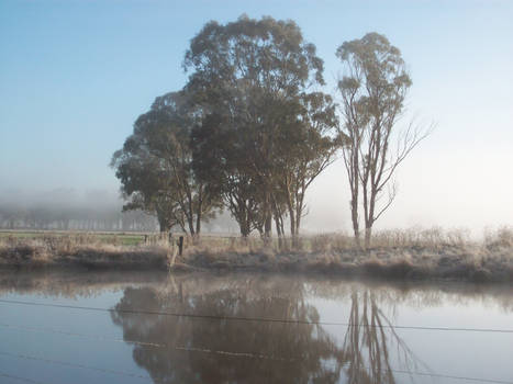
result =
[[[205,111],[193,133],[194,169],[216,183],[241,231],[299,229],[306,187],[334,154],[331,98],[308,93],[324,83],[323,61],[292,21],[247,16],[208,23],[183,63],[187,89]]]

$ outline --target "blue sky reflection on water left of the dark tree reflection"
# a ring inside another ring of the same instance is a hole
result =
[[[8,294],[1,298],[110,308],[123,295],[122,291],[102,292],[94,297],[52,297],[42,294]],[[0,324],[20,327],[46,328],[83,335],[101,335],[123,339],[123,331],[112,324],[108,312],[80,310],[58,307],[8,305],[0,303]],[[125,342],[66,336],[51,332],[26,331],[0,327],[0,351],[37,357],[54,361],[73,362],[112,371],[127,371],[142,376],[148,374],[132,360],[132,347]],[[142,379],[66,366],[38,360],[0,355],[0,371],[43,383],[141,383]],[[0,382],[10,383],[8,377]],[[20,383],[20,381],[13,381]]]

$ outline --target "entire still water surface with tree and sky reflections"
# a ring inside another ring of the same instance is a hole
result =
[[[510,286],[0,273],[0,383],[486,380],[513,383]]]

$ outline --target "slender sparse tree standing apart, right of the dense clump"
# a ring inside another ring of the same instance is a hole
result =
[[[372,225],[392,204],[393,180],[399,165],[431,128],[411,122],[398,131],[404,99],[412,84],[400,50],[386,36],[368,33],[342,44],[336,52],[343,64],[338,81],[345,136],[343,159],[350,187],[352,222],[360,246],[360,211],[364,213],[365,247],[370,245]],[[387,190],[387,199],[382,200]]]

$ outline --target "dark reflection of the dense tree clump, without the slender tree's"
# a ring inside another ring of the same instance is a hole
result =
[[[275,296],[274,292],[293,293]],[[123,310],[150,308],[159,312],[219,316],[290,318],[317,321],[314,306],[302,298],[302,284],[277,282],[264,291],[250,284],[231,284],[207,293],[181,285],[161,294],[155,289],[126,289],[115,306],[113,320],[123,327],[125,340],[165,343],[134,345],[135,362],[157,383],[336,383],[339,371],[326,362],[339,353],[328,335],[316,325],[216,320]],[[196,290],[193,290],[196,291]],[[177,349],[178,347],[178,349]],[[181,348],[209,349],[256,355],[234,357]]]

